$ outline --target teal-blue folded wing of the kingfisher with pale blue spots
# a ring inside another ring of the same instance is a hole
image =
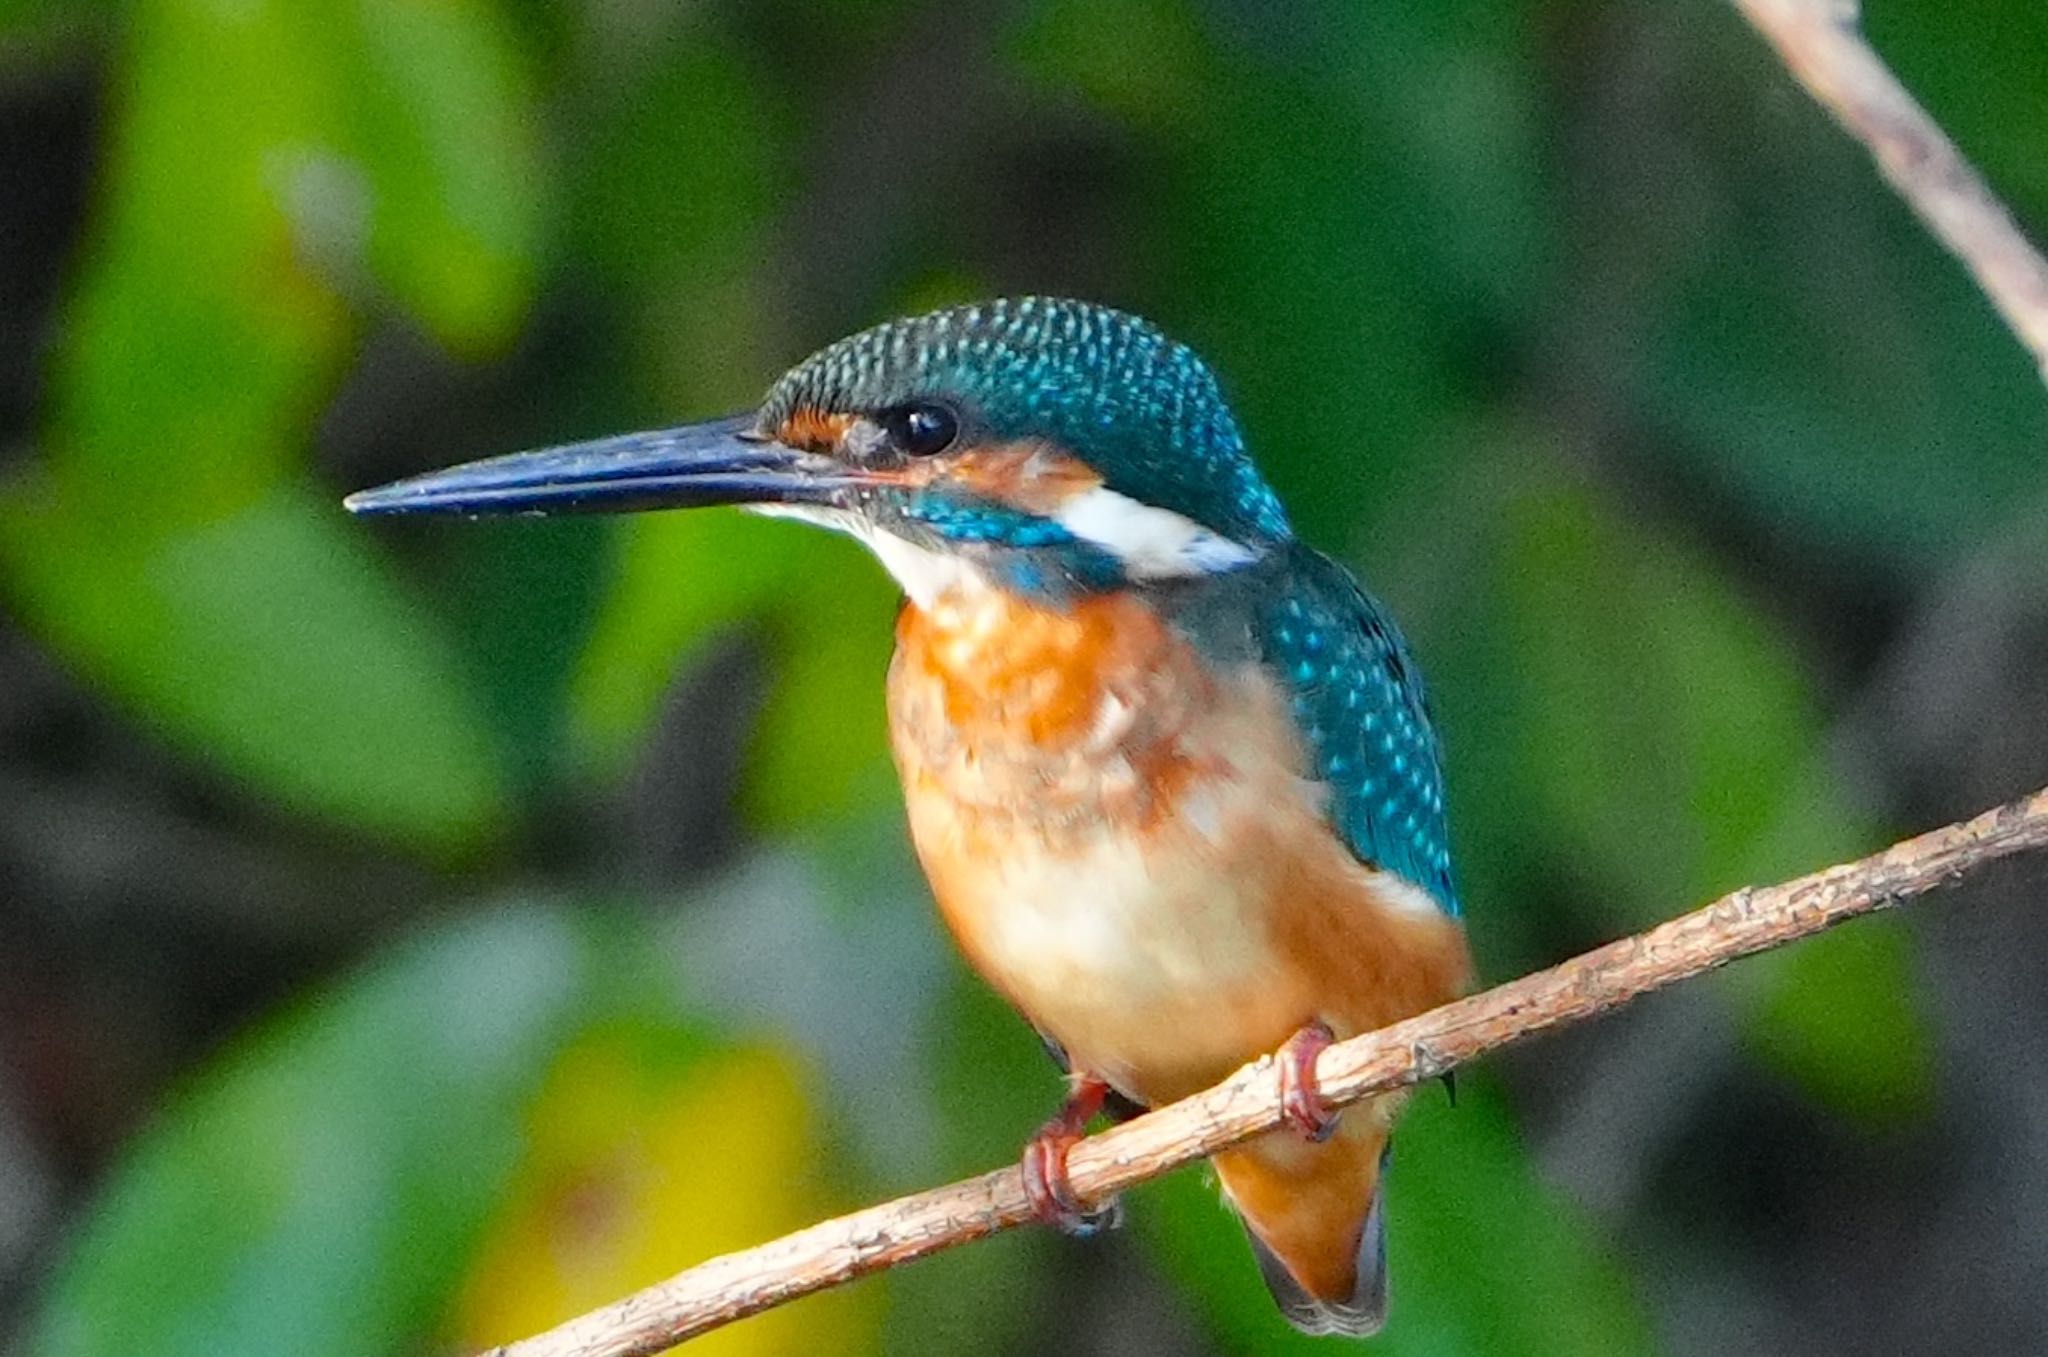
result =
[[[1331,788],[1331,825],[1456,915],[1444,765],[1407,643],[1341,565],[1307,546],[1290,557],[1286,587],[1260,602],[1260,649]]]

